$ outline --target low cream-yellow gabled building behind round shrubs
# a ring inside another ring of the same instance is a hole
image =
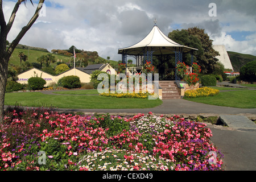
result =
[[[44,80],[46,80],[46,86],[51,84],[52,82],[57,82],[59,81],[60,78],[64,76],[78,76],[80,78],[80,81],[83,83],[88,83],[90,82],[90,74],[92,72],[99,70],[102,72],[106,72],[108,74],[114,74],[117,75],[117,72],[115,69],[110,65],[110,64],[93,64],[93,65],[88,65],[85,68],[72,68],[69,69],[68,71],[65,71],[63,73],[60,73],[59,75],[53,76],[50,75],[49,73],[40,71],[39,69],[32,68],[29,69],[26,72],[20,73],[18,75],[18,81],[20,84],[27,84],[27,81],[31,77],[41,77]]]

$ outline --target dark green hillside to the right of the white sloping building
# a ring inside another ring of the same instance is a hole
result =
[[[240,68],[246,63],[256,60],[256,56],[246,55],[238,52],[227,51],[232,67],[235,72],[240,72]]]

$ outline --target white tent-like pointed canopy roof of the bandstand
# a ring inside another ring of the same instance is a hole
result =
[[[182,46],[173,40],[169,39],[158,26],[154,26],[150,33],[141,40],[141,42],[126,48],[118,49],[118,53],[126,53],[127,55],[144,55],[144,48],[152,47],[153,55],[170,55],[174,54],[175,48],[182,47],[182,52],[189,52],[195,48]]]

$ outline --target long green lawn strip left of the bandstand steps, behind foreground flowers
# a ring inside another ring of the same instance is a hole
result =
[[[161,105],[159,99],[110,98],[102,96],[47,95],[40,92],[6,93],[5,105],[57,107],[69,109],[131,109]]]

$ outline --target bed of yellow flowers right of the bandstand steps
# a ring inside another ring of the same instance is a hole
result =
[[[216,96],[218,93],[220,93],[220,91],[217,89],[203,87],[196,90],[187,90],[185,91],[184,96],[186,98],[208,97],[208,96]]]

